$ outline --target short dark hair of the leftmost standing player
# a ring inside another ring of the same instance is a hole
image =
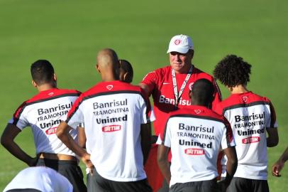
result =
[[[31,75],[37,85],[42,85],[53,80],[54,68],[48,60],[36,60],[31,65]]]

